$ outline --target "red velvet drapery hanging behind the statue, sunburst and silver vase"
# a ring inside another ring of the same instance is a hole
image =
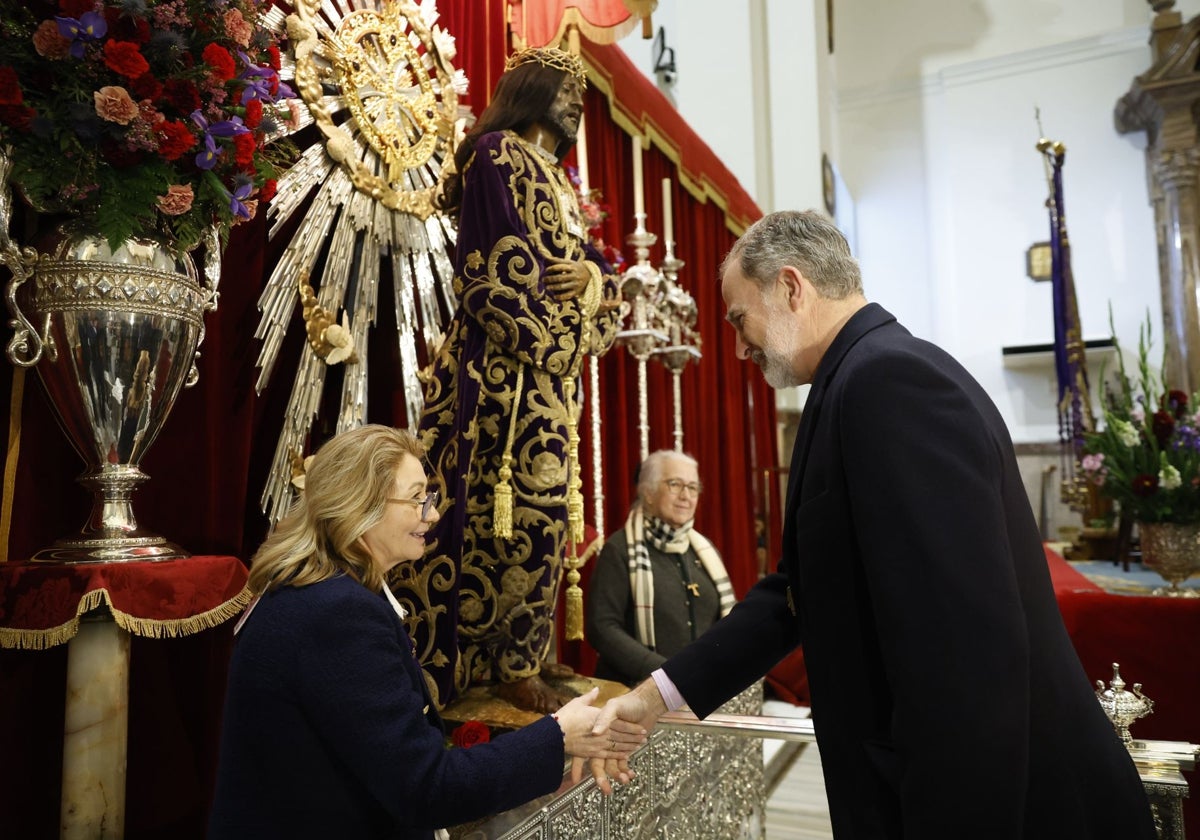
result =
[[[479,113],[503,72],[505,2],[442,0],[438,7],[442,24],[457,40],[456,66],[470,79],[464,101]],[[758,211],[678,115],[667,113],[672,112],[670,103],[644,77],[629,66],[620,68],[617,54],[600,59],[595,54],[588,54],[594,84],[587,100],[587,124],[593,186],[612,206],[606,239],[623,246],[632,228],[630,130],[647,133],[654,144],[644,157],[652,227],[660,227],[654,220],[661,220],[661,179],[671,175],[679,181],[673,204],[678,253],[686,263],[680,281],[698,304],[704,353],[683,377],[684,448],[700,460],[707,488],[697,527],[725,554],[742,594],[758,568],[755,515],[766,509],[757,491],[760,472],[778,461],[774,400],[757,371],[734,358],[732,332],[722,324],[716,269],[736,233]],[[626,106],[626,96],[636,104]],[[258,497],[290,389],[282,366],[302,352],[302,329],[298,312],[281,353],[281,368],[268,390],[257,395],[256,304],[281,247],[266,241],[264,222],[260,216],[233,232],[224,256],[221,308],[206,319],[200,382],[179,397],[142,464],[151,481],[134,494],[144,527],[197,554],[246,559],[266,530]],[[631,251],[624,250],[631,258]],[[661,257],[660,244],[650,258],[658,264]],[[380,312],[388,312],[380,304]],[[395,350],[384,341],[386,326],[377,332],[368,419],[392,422],[397,401],[391,398],[395,385],[388,365]],[[670,376],[656,364],[649,373],[650,448],[670,448]],[[17,388],[22,377],[14,376],[6,361],[0,362],[0,408],[11,421],[2,432],[5,464],[14,464],[5,487],[13,505],[6,542],[0,535],[5,559],[28,558],[55,538],[73,533],[90,506],[89,496],[72,481],[82,461],[56,427],[36,374],[29,372],[23,382],[22,392]],[[606,526],[612,530],[624,521],[632,498],[638,449],[636,371],[623,349],[602,362],[601,394]],[[329,422],[318,424],[319,436],[328,434]],[[588,422],[584,415],[584,464],[592,462]],[[590,497],[590,485],[586,482],[584,488]],[[590,518],[590,498],[586,510]],[[769,510],[779,510],[778,499]],[[134,640],[127,838],[203,835],[228,648],[228,626],[181,640]],[[13,836],[54,833],[64,667],[65,647],[0,650],[0,716],[20,721],[14,727],[19,732],[11,731],[0,742],[0,814]]]

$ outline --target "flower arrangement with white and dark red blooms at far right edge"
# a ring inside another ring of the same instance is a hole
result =
[[[1120,360],[1104,388],[1104,428],[1085,434],[1084,475],[1138,522],[1200,522],[1198,400],[1151,372],[1150,323],[1138,338],[1138,379]]]

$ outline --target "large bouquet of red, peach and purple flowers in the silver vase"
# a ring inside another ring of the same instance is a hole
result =
[[[262,0],[28,0],[0,20],[0,145],[42,212],[190,250],[275,193],[295,124]]]

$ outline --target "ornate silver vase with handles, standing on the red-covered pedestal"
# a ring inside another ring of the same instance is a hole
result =
[[[8,236],[8,161],[0,155],[0,263],[11,272],[13,316],[7,355],[36,367],[55,414],[86,463],[78,481],[92,492],[88,522],[34,556],[59,563],[188,557],[140,528],[132,494],[139,469],[180,389],[198,378],[204,313],[216,308],[220,265],[196,264],[163,241],[128,239],[113,248],[100,235],[61,228],[38,247]],[[209,242],[216,250],[216,236]]]

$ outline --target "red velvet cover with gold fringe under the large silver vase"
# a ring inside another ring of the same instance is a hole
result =
[[[0,564],[0,647],[44,650],[79,631],[79,617],[107,606],[136,636],[168,638],[215,628],[250,601],[236,557],[132,563]]]

